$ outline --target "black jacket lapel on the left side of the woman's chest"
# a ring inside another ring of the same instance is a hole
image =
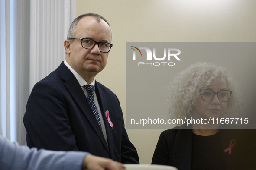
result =
[[[192,161],[192,129],[179,129],[175,143],[177,167],[179,167],[179,170],[190,170]]]

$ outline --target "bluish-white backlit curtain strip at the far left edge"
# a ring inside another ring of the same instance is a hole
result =
[[[16,140],[16,0],[0,1],[0,134]]]

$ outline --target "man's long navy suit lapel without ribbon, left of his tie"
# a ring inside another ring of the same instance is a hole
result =
[[[84,115],[87,117],[91,126],[94,128],[95,132],[97,133],[98,137],[100,138],[101,142],[108,149],[107,142],[104,139],[104,135],[100,130],[100,126],[97,123],[93,110],[84,95],[84,91],[82,90],[81,86],[79,85],[77,79],[73,75],[73,73],[68,69],[67,66],[62,62],[61,65],[56,69],[56,71],[60,74],[61,79],[65,81],[63,84],[65,88],[68,90],[71,97],[74,101],[78,104],[78,106],[83,111]]]

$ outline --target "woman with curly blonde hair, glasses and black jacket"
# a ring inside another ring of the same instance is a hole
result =
[[[172,119],[211,121],[192,121],[162,132],[152,164],[172,165],[178,170],[239,169],[242,139],[236,129],[220,129],[220,118],[237,116],[241,106],[227,69],[196,63],[180,72],[168,89],[166,105]]]

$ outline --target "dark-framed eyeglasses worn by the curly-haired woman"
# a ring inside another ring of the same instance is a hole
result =
[[[232,91],[230,91],[230,90],[221,90],[216,93],[209,89],[201,89],[201,90],[199,90],[199,92],[200,92],[201,98],[204,101],[211,101],[214,98],[215,94],[217,94],[218,99],[220,101],[226,102],[230,99],[231,94],[232,94]]]

